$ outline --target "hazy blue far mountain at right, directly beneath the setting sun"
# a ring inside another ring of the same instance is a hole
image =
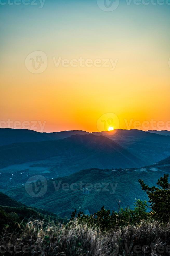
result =
[[[109,132],[95,132],[103,135],[126,148],[133,155],[143,160],[143,165],[151,165],[170,155],[170,136],[163,136],[141,130],[117,129]]]

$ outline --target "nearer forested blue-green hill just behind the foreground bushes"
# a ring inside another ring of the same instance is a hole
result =
[[[164,173],[169,171],[94,168],[47,181],[47,192],[42,197],[30,196],[25,191],[25,186],[6,188],[4,191],[12,198],[31,207],[40,207],[69,218],[75,209],[77,212],[93,214],[103,205],[106,209],[117,211],[119,200],[121,207],[130,206],[130,208],[134,207],[135,198],[148,201],[147,194],[142,191],[138,180],[143,179],[149,186],[156,185]],[[31,193],[32,188],[31,184],[29,188]]]

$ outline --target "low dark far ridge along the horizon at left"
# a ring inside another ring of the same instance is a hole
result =
[[[36,132],[29,129],[0,128],[0,146],[18,142],[38,142],[63,139],[74,134],[88,134],[85,131]]]

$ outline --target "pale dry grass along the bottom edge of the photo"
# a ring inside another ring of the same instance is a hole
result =
[[[101,232],[77,222],[70,226],[46,225],[36,220],[30,221],[18,233],[6,230],[0,237],[0,244],[1,255],[165,256],[170,255],[170,246],[167,247],[170,244],[170,225],[141,222],[138,226]]]

